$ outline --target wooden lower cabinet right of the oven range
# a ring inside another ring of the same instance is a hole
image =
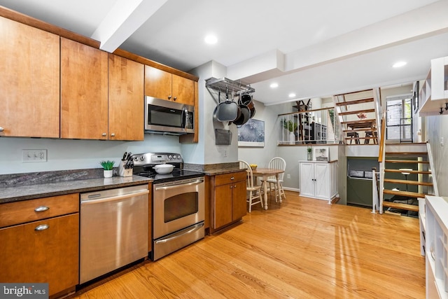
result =
[[[212,179],[211,232],[246,215],[246,172],[219,174]]]

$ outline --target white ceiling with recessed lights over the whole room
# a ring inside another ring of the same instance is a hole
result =
[[[254,98],[267,105],[409,83],[426,77],[431,59],[448,56],[448,0],[0,0],[0,5],[95,36],[102,46],[107,38],[97,38],[98,32],[109,30],[120,48],[183,71],[214,60],[228,67],[228,78],[250,83]],[[204,43],[209,33],[218,37],[213,46]],[[392,69],[398,60],[407,65]],[[273,90],[274,81],[279,87]],[[296,96],[288,97],[290,92]]]

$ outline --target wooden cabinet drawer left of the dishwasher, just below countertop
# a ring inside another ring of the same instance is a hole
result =
[[[8,202],[0,204],[0,228],[78,211],[79,193]]]

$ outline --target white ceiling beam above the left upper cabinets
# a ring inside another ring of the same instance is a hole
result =
[[[99,48],[113,53],[167,0],[118,0],[92,34]]]

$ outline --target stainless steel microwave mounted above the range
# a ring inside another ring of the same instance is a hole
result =
[[[145,97],[145,132],[188,134],[195,132],[195,107]]]

